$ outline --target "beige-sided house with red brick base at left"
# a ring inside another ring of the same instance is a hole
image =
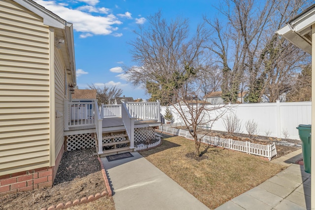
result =
[[[0,1],[0,195],[52,186],[64,100],[76,83],[72,24],[32,0]]]

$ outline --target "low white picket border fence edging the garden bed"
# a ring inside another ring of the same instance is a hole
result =
[[[158,131],[168,133],[175,136],[182,136],[184,138],[194,140],[193,137],[189,134],[187,130],[181,130],[172,128],[170,126],[159,126]],[[208,145],[218,146],[227,148],[230,150],[237,150],[246,152],[249,154],[254,154],[258,156],[267,157],[269,160],[273,156],[277,155],[276,145],[273,143],[272,145],[259,145],[253,144],[251,142],[242,142],[242,141],[234,141],[232,139],[223,139],[219,137],[205,136],[197,134],[198,141],[201,141]]]

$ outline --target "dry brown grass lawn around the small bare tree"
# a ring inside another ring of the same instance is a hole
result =
[[[284,169],[255,155],[205,144],[200,152],[205,152],[203,156],[208,158],[197,161],[185,156],[193,151],[193,141],[169,136],[162,140],[161,146],[140,153],[210,209]]]

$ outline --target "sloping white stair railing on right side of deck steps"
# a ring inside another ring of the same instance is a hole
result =
[[[129,114],[125,100],[122,100],[122,119],[130,141],[130,149],[134,149],[134,120]]]

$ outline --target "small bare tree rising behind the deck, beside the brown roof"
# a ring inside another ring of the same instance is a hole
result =
[[[111,98],[116,98],[123,94],[123,90],[118,88],[117,86],[106,87],[105,84],[104,87],[96,87],[94,84],[91,84],[88,85],[88,88],[86,89],[96,90],[96,99],[98,106],[100,106],[102,103],[109,104],[109,100]]]

